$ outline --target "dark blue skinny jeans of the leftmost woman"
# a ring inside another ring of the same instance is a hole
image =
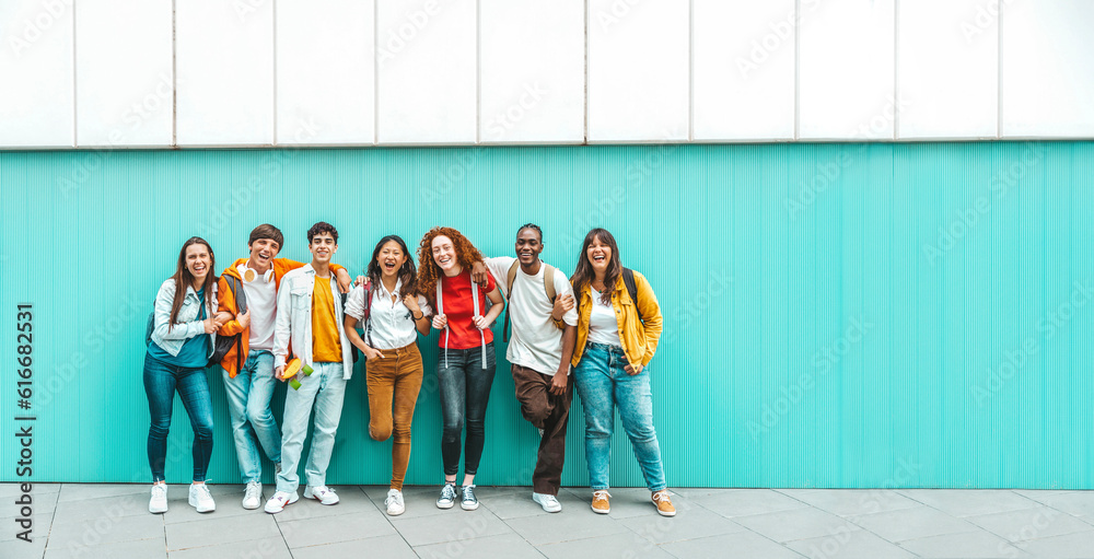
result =
[[[167,459],[167,432],[175,391],[194,429],[194,481],[205,481],[212,457],[212,399],[205,368],[177,366],[144,354],[144,394],[152,423],[148,428],[148,465],[152,481],[163,481]]]

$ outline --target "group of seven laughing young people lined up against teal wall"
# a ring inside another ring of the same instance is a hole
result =
[[[521,414],[542,435],[532,499],[548,512],[562,509],[558,491],[575,386],[585,415],[592,510],[610,510],[608,459],[618,408],[652,503],[660,514],[675,515],[653,427],[648,369],[661,337],[661,311],[649,281],[622,266],[609,232],[589,232],[571,278],[539,259],[543,232],[532,223],[517,231],[515,257],[493,258],[455,229],[433,228],[419,243],[417,266],[403,238],[387,235],[356,281],[331,263],[338,231],[329,223],[307,231],[307,264],[278,258],[283,245],[277,228],[259,225],[247,241],[248,257],[218,278],[212,248],[191,237],[179,251],[174,276],[160,287],[143,373],[151,415],[150,512],[167,510],[164,467],[175,392],[195,435],[188,502],[198,512],[216,510],[206,485],[213,444],[206,369],[214,365],[222,370],[246,481],[243,506],[261,505],[264,453],[277,474],[266,512],[281,512],[299,500],[298,470],[313,414],[303,497],[336,504],[326,470],[356,349],[365,360],[369,435],[393,439],[385,505],[388,514],[401,514],[410,426],[424,371],[417,340],[431,329],[440,331],[443,418],[444,482],[435,504],[451,509],[458,501],[464,510],[477,509],[475,475],[497,366],[491,325],[504,311],[515,396]],[[293,388],[286,392],[279,430],[271,399],[277,383],[290,379]],[[461,454],[464,477],[457,486]]]

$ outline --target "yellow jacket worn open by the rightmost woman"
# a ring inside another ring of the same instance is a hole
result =
[[[615,293],[612,294],[612,306],[616,312],[619,341],[622,342],[627,361],[645,366],[653,359],[653,353],[657,350],[657,340],[661,339],[661,305],[657,304],[657,295],[653,294],[653,288],[645,280],[645,276],[637,271],[635,287],[638,288],[637,308],[635,302],[630,300],[630,293],[627,292],[627,286],[620,273],[616,279]],[[577,296],[578,342],[573,346],[573,359],[570,360],[574,366],[581,361],[581,356],[585,352],[585,342],[589,341],[589,316],[593,312],[590,286],[585,286]],[[639,317],[639,311],[644,317],[644,324]]]

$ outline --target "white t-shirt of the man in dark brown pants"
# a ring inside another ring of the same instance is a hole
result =
[[[513,280],[513,294],[508,293],[507,279],[509,268],[516,261],[512,256],[487,258],[486,266],[493,275],[501,289],[502,296],[509,300],[510,333],[509,350],[505,359],[510,363],[526,366],[536,372],[554,375],[562,362],[562,330],[550,319],[555,304],[547,299],[544,288],[544,271],[542,263],[535,276],[524,273],[520,265],[516,267],[516,278]],[[556,296],[573,294],[570,280],[558,268],[555,269]],[[571,308],[562,315],[562,322],[570,326],[578,325],[578,312]]]

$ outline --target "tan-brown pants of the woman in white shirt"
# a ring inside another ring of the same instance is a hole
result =
[[[417,343],[380,350],[384,358],[365,361],[369,385],[369,435],[392,444],[392,489],[403,490],[410,464],[410,423],[421,389],[421,353]]]

